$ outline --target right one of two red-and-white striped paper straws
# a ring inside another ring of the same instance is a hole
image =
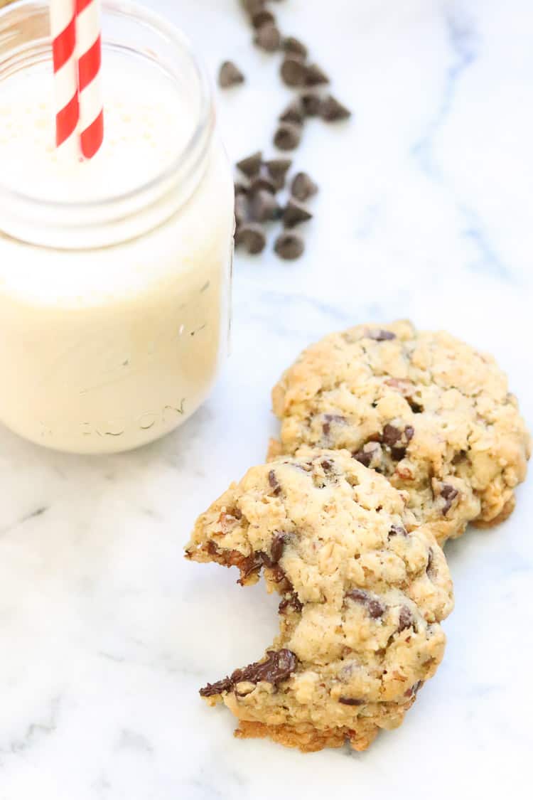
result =
[[[100,0],[76,0],[76,58],[82,155],[93,158],[104,138]]]

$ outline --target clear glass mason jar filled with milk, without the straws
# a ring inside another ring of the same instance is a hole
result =
[[[102,41],[106,122],[129,127],[107,134],[109,181],[95,166],[84,195],[74,173],[58,196],[54,170],[41,174],[31,142],[19,142],[45,125],[33,87],[52,91],[48,3],[0,12],[0,422],[75,453],[129,450],[184,422],[209,394],[229,332],[233,181],[209,82],[182,34],[134,3],[104,2]],[[157,93],[161,114],[176,103],[181,135],[158,138],[169,118],[146,111]],[[24,170],[11,170],[26,151]]]

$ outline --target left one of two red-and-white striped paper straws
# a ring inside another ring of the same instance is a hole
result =
[[[50,30],[54,55],[56,146],[78,150],[78,65],[75,0],[51,0]]]

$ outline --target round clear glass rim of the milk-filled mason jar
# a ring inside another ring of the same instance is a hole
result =
[[[17,2],[0,9],[0,23],[2,23],[2,20],[9,18],[10,14],[15,14],[17,11],[28,10],[30,8],[38,9],[46,6],[48,6],[47,0],[17,0]],[[206,146],[209,144],[210,134],[214,126],[213,93],[205,67],[194,53],[189,38],[187,38],[173,22],[168,22],[161,14],[149,10],[149,8],[141,5],[139,2],[135,2],[135,0],[102,0],[102,7],[103,10],[107,10],[117,17],[133,16],[155,34],[165,37],[167,42],[177,46],[177,48],[181,50],[181,52],[184,52],[189,58],[198,78],[198,85],[201,92],[200,108],[196,125],[175,158],[162,170],[159,170],[153,178],[150,178],[148,181],[141,183],[133,189],[117,194],[108,194],[105,197],[91,200],[48,200],[33,194],[21,192],[20,190],[14,189],[12,186],[2,185],[2,179],[0,177],[0,197],[3,195],[4,201],[12,201],[18,205],[45,207],[54,214],[61,214],[64,212],[68,214],[69,217],[73,214],[90,213],[95,210],[105,212],[105,209],[112,209],[113,206],[130,205],[143,195],[153,195],[157,193],[158,187],[162,188],[168,185],[180,170],[187,168],[189,162],[193,160],[194,163],[197,162],[197,151],[199,147],[202,146],[202,141],[205,142]],[[46,37],[45,41],[47,44],[50,44],[51,57],[52,42],[50,35]],[[102,45],[105,46],[105,44],[106,40],[103,38]]]

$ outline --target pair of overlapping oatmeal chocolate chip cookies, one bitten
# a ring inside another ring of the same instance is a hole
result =
[[[237,566],[242,586],[262,571],[280,634],[200,694],[237,736],[364,750],[443,658],[444,542],[511,514],[530,438],[493,358],[409,322],[324,338],[272,398],[280,440],[201,515],[187,555]]]

